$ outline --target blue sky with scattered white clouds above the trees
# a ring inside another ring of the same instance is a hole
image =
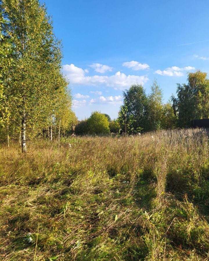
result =
[[[187,72],[209,72],[206,0],[46,0],[62,39],[63,72],[79,119],[94,110],[116,118],[122,90],[154,78],[166,102]]]

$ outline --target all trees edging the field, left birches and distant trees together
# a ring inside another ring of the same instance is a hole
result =
[[[66,135],[77,118],[68,80],[62,74],[62,45],[38,0],[0,0],[0,141]],[[118,119],[93,112],[76,125],[77,134],[141,133],[188,128],[193,119],[209,117],[209,80],[201,71],[177,84],[176,96],[163,102],[154,80],[147,95],[140,84],[123,92]]]

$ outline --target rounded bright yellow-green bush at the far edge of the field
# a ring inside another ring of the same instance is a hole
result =
[[[98,111],[93,112],[90,118],[87,119],[87,129],[90,134],[110,133],[107,117]]]

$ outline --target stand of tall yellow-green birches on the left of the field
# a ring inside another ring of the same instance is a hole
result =
[[[28,139],[60,137],[76,122],[62,45],[38,0],[0,1],[0,44],[0,139],[26,152]]]

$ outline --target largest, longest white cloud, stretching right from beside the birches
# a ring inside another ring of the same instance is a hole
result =
[[[111,76],[85,76],[85,71],[82,68],[76,67],[74,64],[64,65],[63,72],[69,78],[71,84],[79,84],[84,86],[103,85],[120,90],[123,90],[136,82],[138,82],[138,84],[145,84],[149,80],[146,75],[126,75],[125,73],[120,73],[120,71]]]

